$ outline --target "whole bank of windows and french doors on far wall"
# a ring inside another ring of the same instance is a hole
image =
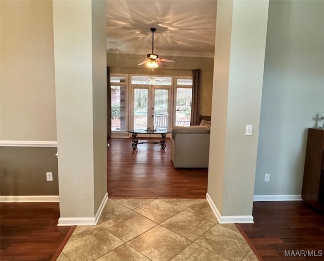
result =
[[[110,75],[112,135],[131,128],[189,126],[192,77]]]

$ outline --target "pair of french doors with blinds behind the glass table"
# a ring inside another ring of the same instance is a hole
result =
[[[133,85],[131,101],[132,128],[170,129],[171,86]]]

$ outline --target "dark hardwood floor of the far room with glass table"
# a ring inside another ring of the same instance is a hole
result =
[[[175,169],[170,139],[166,150],[157,144],[139,144],[133,150],[132,139],[110,139],[109,144],[109,198],[206,198],[208,169]]]

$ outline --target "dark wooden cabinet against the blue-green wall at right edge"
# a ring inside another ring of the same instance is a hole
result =
[[[309,128],[302,198],[324,212],[324,129]]]

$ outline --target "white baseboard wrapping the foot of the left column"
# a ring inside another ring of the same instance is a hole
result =
[[[100,218],[101,212],[107,202],[108,193],[106,193],[101,201],[96,215],[92,218],[59,218],[57,226],[95,226]]]

